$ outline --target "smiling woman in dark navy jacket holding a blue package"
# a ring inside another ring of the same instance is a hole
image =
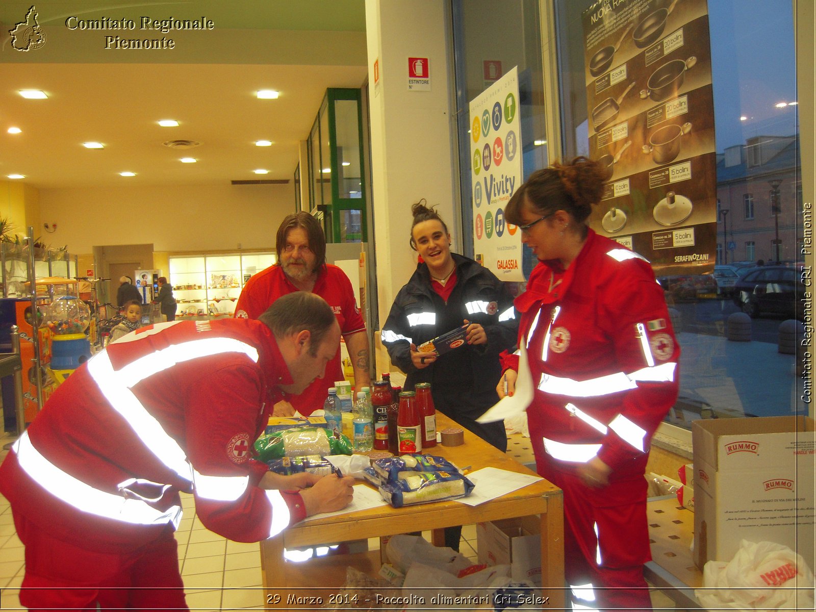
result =
[[[507,450],[503,422],[476,419],[499,397],[499,354],[516,342],[517,317],[503,282],[487,268],[450,252],[450,233],[437,211],[411,207],[410,246],[422,263],[394,299],[381,339],[391,361],[406,373],[405,391],[430,383],[439,412]],[[438,335],[468,325],[467,344],[449,353],[420,353],[417,347]],[[459,550],[459,532],[446,530],[446,546]]]

